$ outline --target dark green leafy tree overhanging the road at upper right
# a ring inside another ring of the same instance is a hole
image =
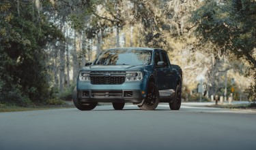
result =
[[[204,1],[191,20],[201,42],[211,41],[223,53],[231,52],[251,64],[251,96],[256,98],[256,1]]]

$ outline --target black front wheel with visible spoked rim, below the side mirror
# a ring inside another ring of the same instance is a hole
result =
[[[142,110],[154,110],[158,106],[159,92],[155,83],[150,82],[147,86],[147,96],[143,105],[139,106]]]

